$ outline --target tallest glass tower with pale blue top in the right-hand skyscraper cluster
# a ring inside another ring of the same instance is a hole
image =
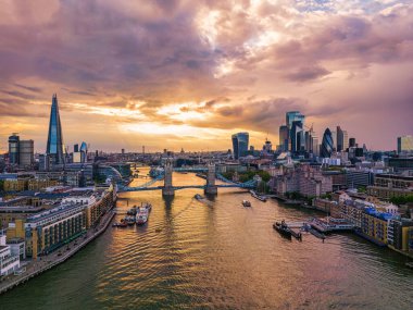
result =
[[[291,152],[300,151],[301,147],[304,146],[304,120],[305,116],[299,111],[290,111],[286,113],[286,125],[289,131],[288,149]]]

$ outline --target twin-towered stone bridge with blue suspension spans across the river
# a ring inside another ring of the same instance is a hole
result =
[[[204,172],[206,173],[206,184],[205,185],[182,185],[174,186],[172,183],[173,172]],[[215,184],[215,179],[220,179],[225,184]],[[163,179],[163,186],[152,186],[154,183]],[[246,183],[236,183],[230,179],[225,178],[222,174],[216,173],[215,164],[210,163],[206,166],[197,166],[197,168],[177,168],[174,169],[171,162],[166,162],[163,173],[159,174],[151,181],[136,186],[127,187],[118,185],[118,191],[142,191],[142,190],[162,190],[162,196],[174,196],[175,190],[185,189],[185,188],[201,188],[205,194],[216,195],[218,188],[255,188],[256,182],[251,179]]]

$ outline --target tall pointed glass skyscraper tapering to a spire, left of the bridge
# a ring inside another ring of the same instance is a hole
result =
[[[49,135],[46,153],[52,159],[53,164],[64,164],[64,144],[62,125],[60,122],[58,96],[54,94],[50,111]]]

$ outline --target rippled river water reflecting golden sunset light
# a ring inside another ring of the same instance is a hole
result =
[[[175,185],[203,183],[174,174]],[[352,234],[288,240],[274,220],[321,214],[238,189],[203,202],[197,193],[178,190],[170,201],[159,190],[122,194],[128,202],[120,210],[152,203],[147,225],[109,227],[67,262],[0,296],[0,309],[412,309],[404,257]]]

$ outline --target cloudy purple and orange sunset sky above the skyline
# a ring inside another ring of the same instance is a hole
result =
[[[71,150],[261,148],[289,110],[367,148],[413,133],[412,1],[0,5],[0,152],[13,132],[45,151],[53,92]]]

